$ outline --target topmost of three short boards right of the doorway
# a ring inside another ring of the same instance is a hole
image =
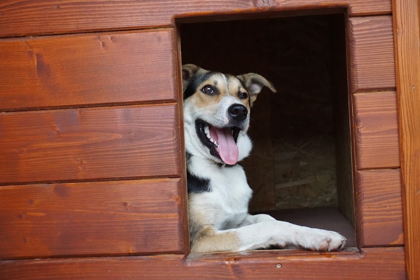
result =
[[[349,19],[350,90],[395,88],[392,16]]]

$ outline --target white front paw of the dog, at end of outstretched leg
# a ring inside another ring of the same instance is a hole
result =
[[[306,240],[300,245],[313,251],[341,250],[346,245],[344,236],[334,231],[322,229],[309,229],[305,233],[304,239]]]

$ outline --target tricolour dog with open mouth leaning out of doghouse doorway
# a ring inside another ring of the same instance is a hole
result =
[[[251,215],[252,190],[238,164],[252,144],[246,134],[249,112],[263,87],[273,84],[256,73],[224,74],[193,64],[182,66],[184,138],[192,253],[303,247],[340,250],[337,232]]]

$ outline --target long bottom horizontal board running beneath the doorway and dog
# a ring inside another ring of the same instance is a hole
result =
[[[360,254],[250,251],[202,256],[76,258],[0,262],[5,279],[406,279],[404,247]],[[287,250],[288,251],[288,250]]]

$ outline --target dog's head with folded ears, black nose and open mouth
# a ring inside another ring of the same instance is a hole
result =
[[[185,146],[188,153],[228,165],[244,159],[251,149],[246,135],[249,112],[258,93],[266,86],[263,76],[238,76],[182,66]]]

